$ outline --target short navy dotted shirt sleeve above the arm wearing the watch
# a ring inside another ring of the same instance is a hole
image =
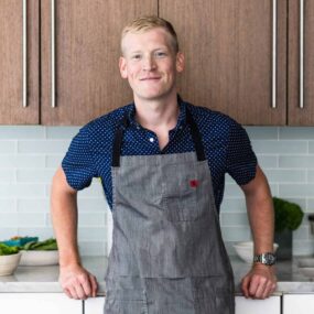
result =
[[[257,156],[247,131],[236,121],[229,133],[227,148],[227,172],[239,185],[249,183],[256,176]]]

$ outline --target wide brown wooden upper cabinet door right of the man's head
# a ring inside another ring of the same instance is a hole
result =
[[[228,113],[245,124],[285,123],[285,0],[159,2],[160,15],[173,23],[185,53],[180,93],[186,100]],[[277,3],[275,23],[272,3]],[[275,90],[272,90],[273,39]]]

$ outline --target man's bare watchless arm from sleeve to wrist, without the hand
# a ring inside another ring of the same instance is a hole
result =
[[[54,176],[51,214],[59,250],[61,266],[79,263],[77,248],[77,193],[72,190],[59,167]]]

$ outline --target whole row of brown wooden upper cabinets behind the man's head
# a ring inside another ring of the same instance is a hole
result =
[[[186,100],[242,124],[314,124],[314,3],[302,0],[2,0],[0,123],[84,124],[129,102],[120,31],[142,14],[177,30]]]

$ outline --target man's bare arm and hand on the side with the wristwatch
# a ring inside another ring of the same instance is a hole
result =
[[[256,177],[241,186],[255,241],[255,253],[273,251],[274,214],[272,197],[267,178],[259,166]],[[242,279],[246,297],[266,299],[275,290],[273,266],[253,263],[251,271]]]

